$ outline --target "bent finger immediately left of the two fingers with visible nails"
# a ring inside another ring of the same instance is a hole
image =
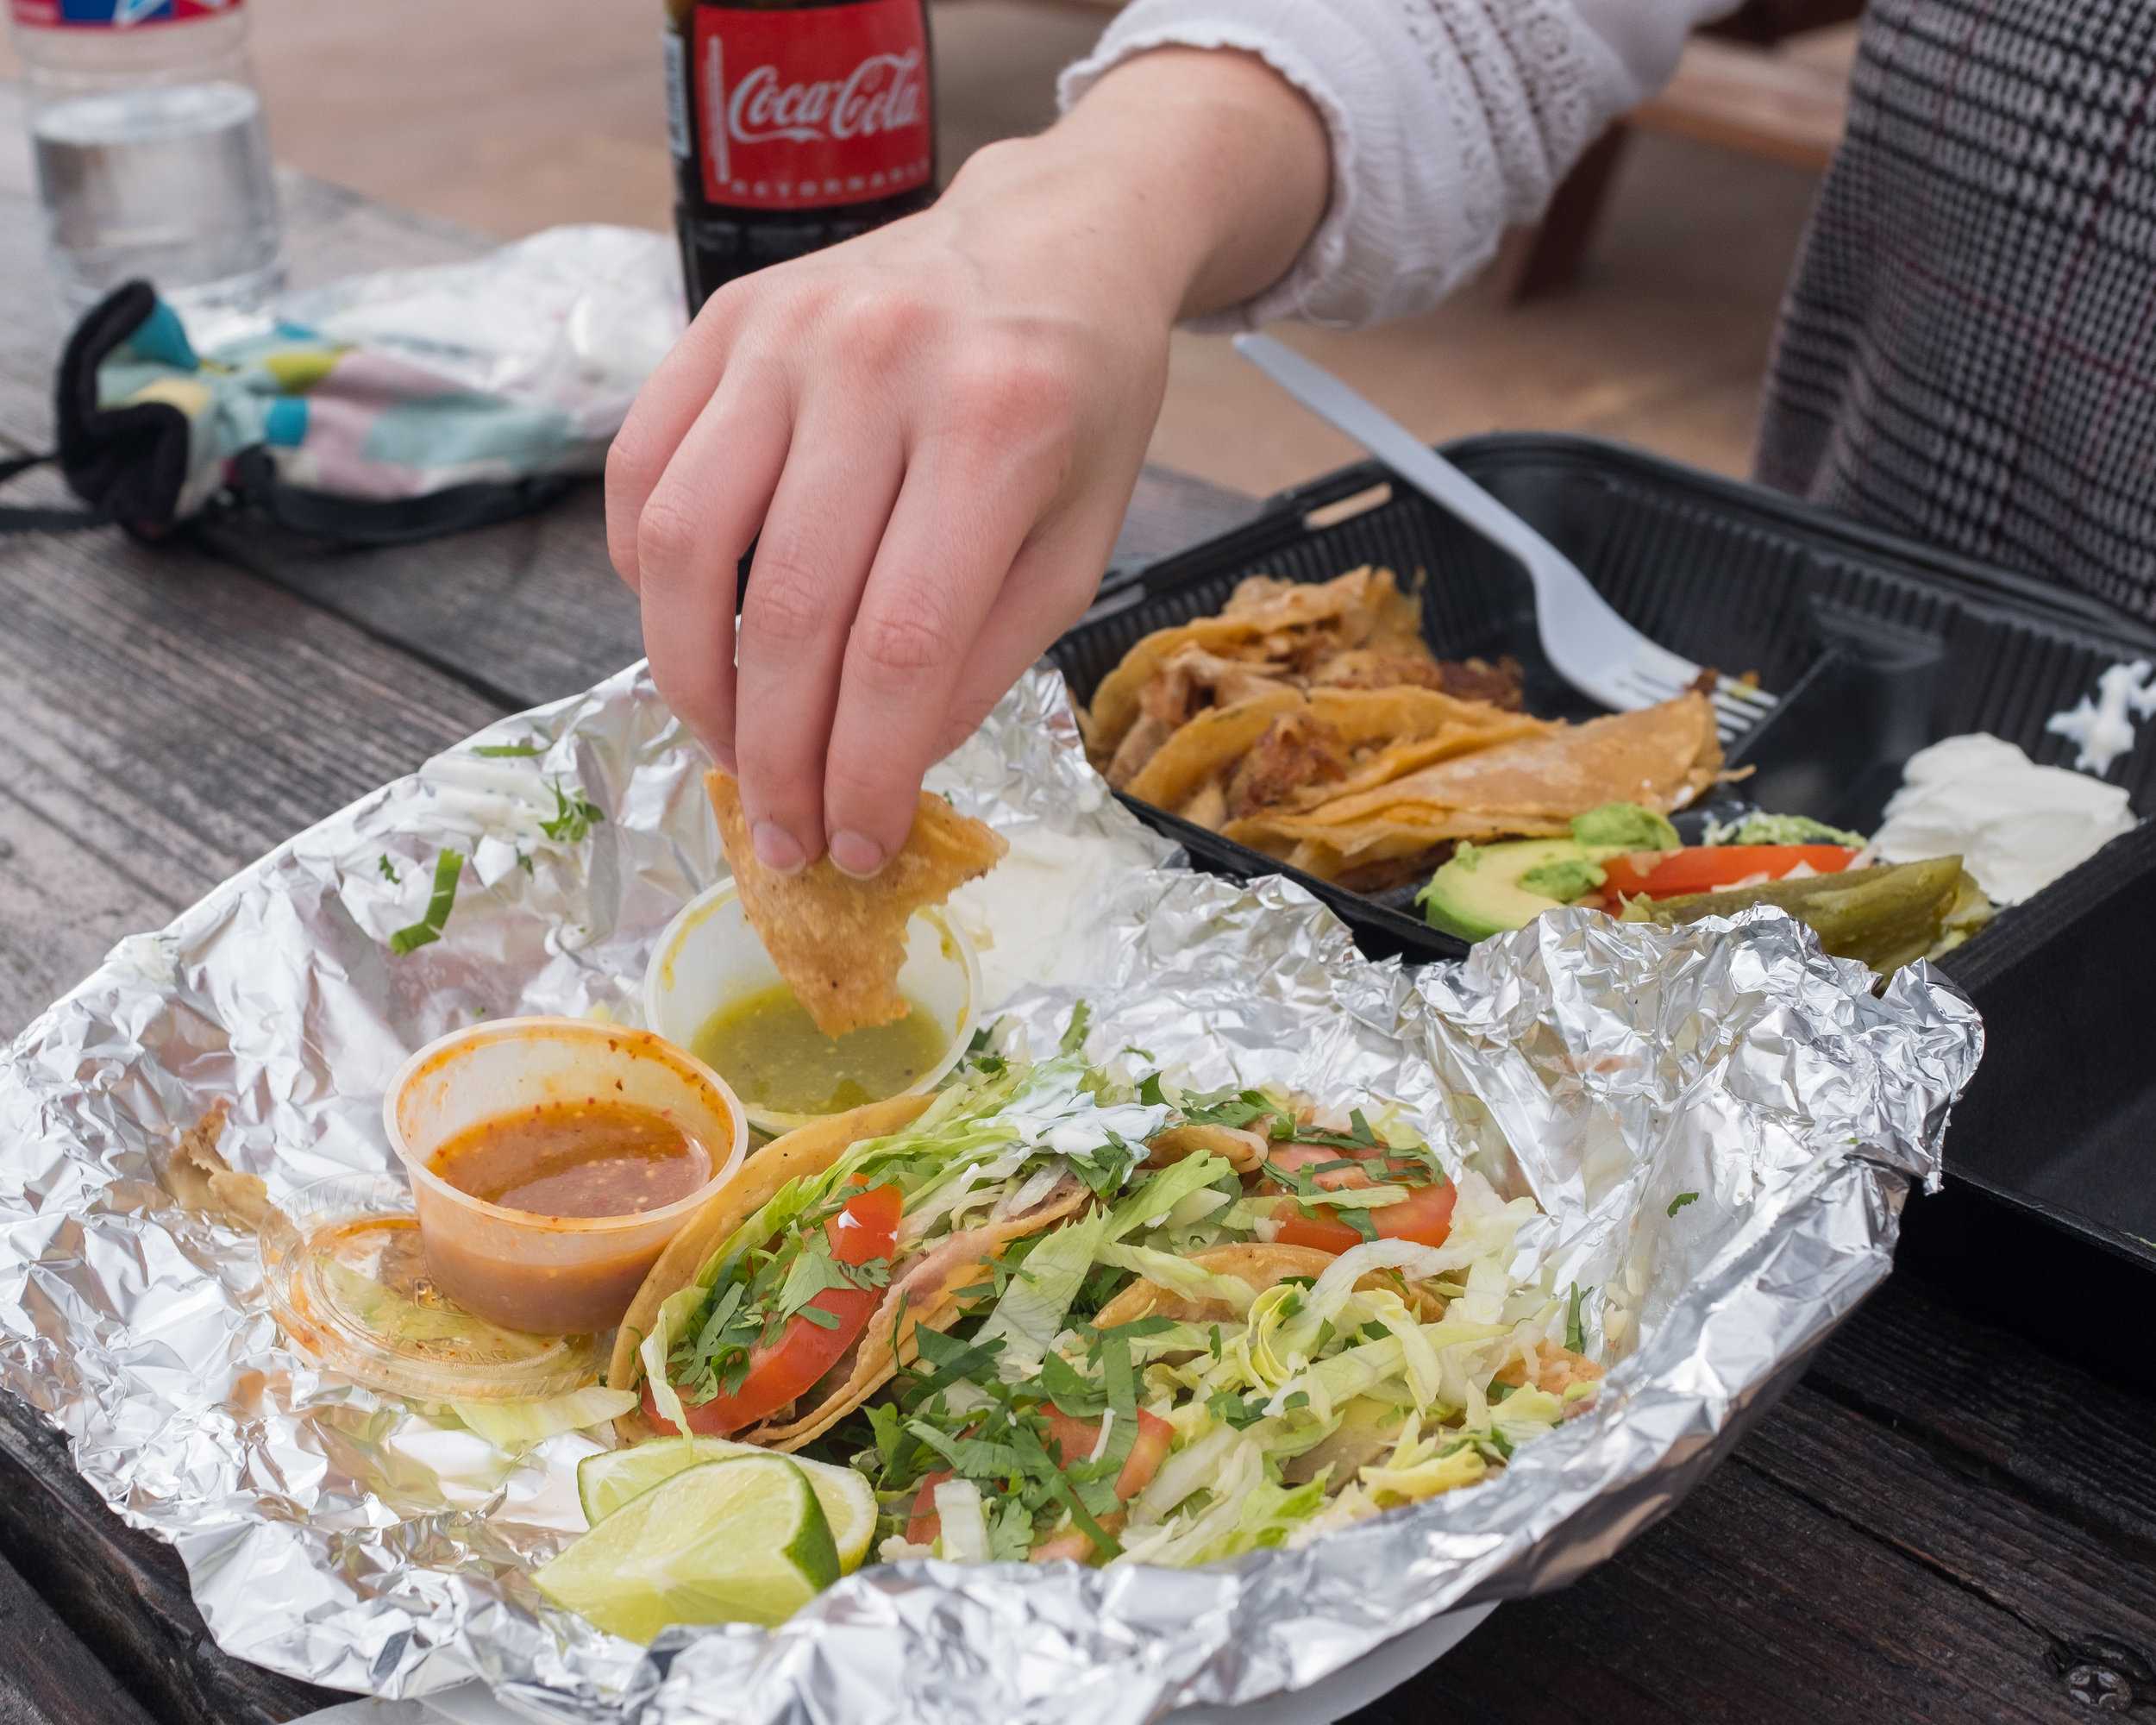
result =
[[[735,565],[763,522],[789,442],[778,380],[735,369],[681,436],[636,515],[634,584],[651,681],[729,772],[737,770]]]

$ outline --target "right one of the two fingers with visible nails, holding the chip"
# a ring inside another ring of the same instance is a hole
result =
[[[921,774],[1046,483],[925,453],[906,474],[845,647],[824,763],[830,860],[869,875],[906,843]]]

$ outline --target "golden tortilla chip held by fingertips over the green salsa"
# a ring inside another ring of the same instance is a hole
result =
[[[985,875],[1009,850],[1003,834],[923,791],[912,832],[873,880],[841,873],[828,856],[783,875],[757,860],[740,785],[724,772],[703,783],[748,925],[828,1037],[906,1018],[899,968],[908,921]]]

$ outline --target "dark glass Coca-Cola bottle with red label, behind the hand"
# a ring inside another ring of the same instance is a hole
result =
[[[927,0],[666,0],[666,123],[694,313],[765,263],[936,196]]]

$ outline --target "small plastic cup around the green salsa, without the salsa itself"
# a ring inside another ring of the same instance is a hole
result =
[[[651,949],[651,964],[645,970],[645,1024],[681,1048],[692,1048],[711,1013],[780,981],[778,966],[748,925],[735,884],[722,880],[690,899]],[[916,910],[906,925],[899,992],[927,1011],[942,1037],[938,1059],[899,1091],[899,1095],[923,1095],[936,1089],[966,1052],[981,998],[981,960],[966,932],[940,910]],[[824,1119],[824,1115],[774,1108],[761,1095],[742,1095],[742,1108],[750,1126],[765,1136]]]

